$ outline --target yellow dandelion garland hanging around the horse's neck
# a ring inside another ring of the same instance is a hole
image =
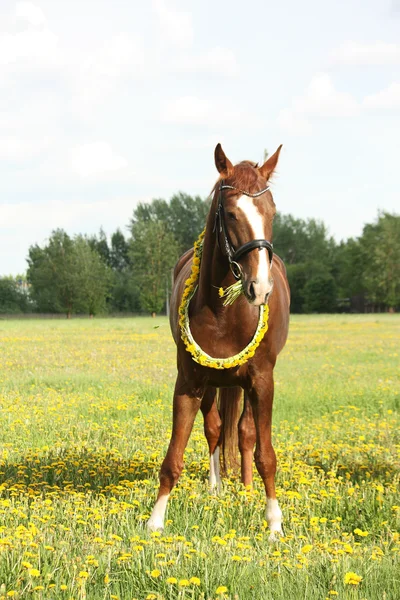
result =
[[[214,358],[200,348],[200,346],[194,340],[192,332],[190,331],[189,304],[197,290],[197,281],[200,272],[200,262],[203,252],[203,239],[205,232],[206,230],[204,229],[194,244],[192,270],[190,277],[185,281],[185,289],[183,291],[182,301],[179,306],[179,326],[181,328],[181,337],[186,346],[186,350],[190,352],[195,362],[199,363],[203,367],[211,367],[212,369],[232,369],[233,367],[243,365],[249,360],[249,358],[254,356],[256,349],[260,345],[261,340],[268,330],[269,306],[263,304],[260,306],[260,316],[253,339],[246,346],[246,348],[244,348],[238,354],[228,358]]]

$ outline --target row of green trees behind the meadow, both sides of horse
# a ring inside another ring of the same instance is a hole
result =
[[[133,211],[124,235],[53,231],[28,252],[25,276],[0,278],[0,313],[160,313],[178,257],[203,229],[209,201],[175,194]],[[284,260],[295,313],[400,307],[400,216],[381,212],[340,243],[324,223],[278,213],[274,249]]]

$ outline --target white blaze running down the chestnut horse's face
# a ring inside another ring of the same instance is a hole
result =
[[[265,239],[263,216],[254,204],[253,198],[241,196],[237,206],[243,212],[250,225],[251,238],[246,241]],[[265,298],[265,295],[268,294],[272,288],[270,283],[269,256],[266,248],[258,251],[258,266],[255,279],[256,284],[254,285],[254,288],[257,296],[260,295]]]

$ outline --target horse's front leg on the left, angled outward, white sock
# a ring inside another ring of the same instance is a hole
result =
[[[172,488],[183,469],[183,453],[188,443],[204,390],[187,384],[178,374],[173,402],[171,440],[160,470],[160,487],[147,527],[150,531],[164,529],[165,512]]]

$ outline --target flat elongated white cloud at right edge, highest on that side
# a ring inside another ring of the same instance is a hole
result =
[[[331,58],[335,64],[349,66],[400,65],[400,44],[346,42],[332,53]]]

